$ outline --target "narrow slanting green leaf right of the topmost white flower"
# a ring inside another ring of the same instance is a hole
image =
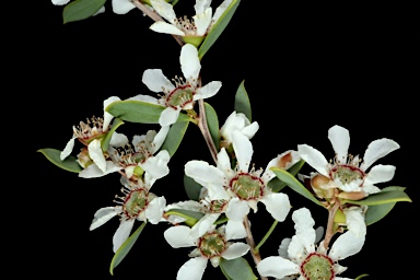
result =
[[[233,0],[224,13],[219,18],[218,22],[214,23],[214,25],[211,27],[209,34],[207,34],[206,39],[202,42],[200,49],[198,50],[198,57],[200,59],[202,59],[205,54],[210,49],[210,47],[214,44],[214,42],[228,26],[228,23],[231,21],[240,2],[241,0]]]

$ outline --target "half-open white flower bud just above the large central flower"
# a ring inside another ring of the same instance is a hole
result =
[[[232,112],[226,118],[223,126],[220,128],[220,135],[228,142],[232,143],[232,132],[234,130],[241,131],[248,139],[252,139],[258,131],[259,125],[257,121],[250,124],[249,119],[243,113]]]

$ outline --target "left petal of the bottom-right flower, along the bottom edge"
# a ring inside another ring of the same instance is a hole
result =
[[[257,265],[260,276],[283,278],[299,272],[299,266],[282,257],[267,257]]]

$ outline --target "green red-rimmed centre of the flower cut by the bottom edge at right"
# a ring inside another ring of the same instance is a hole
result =
[[[335,277],[332,260],[322,254],[312,253],[301,265],[306,280],[331,280]]]

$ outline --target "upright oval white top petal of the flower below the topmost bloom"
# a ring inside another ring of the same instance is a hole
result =
[[[185,44],[180,49],[179,63],[180,70],[188,81],[196,81],[198,79],[201,65],[198,58],[198,50],[194,45]]]

